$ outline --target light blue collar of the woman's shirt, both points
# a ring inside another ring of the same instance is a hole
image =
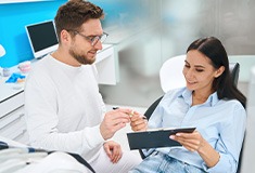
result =
[[[180,93],[179,97],[183,97],[187,104],[192,104],[192,91],[188,90],[187,88]],[[203,105],[215,106],[218,102],[219,98],[217,92],[214,92],[208,96],[207,101]]]

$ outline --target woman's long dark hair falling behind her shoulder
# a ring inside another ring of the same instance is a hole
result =
[[[225,67],[225,71],[213,82],[213,89],[217,92],[219,99],[238,99],[243,107],[246,104],[246,97],[237,89],[229,71],[229,59],[221,42],[215,37],[201,38],[190,44],[187,53],[196,50],[207,56],[213,66],[218,69]]]

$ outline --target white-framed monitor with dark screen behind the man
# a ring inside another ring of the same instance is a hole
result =
[[[35,58],[41,58],[58,49],[59,40],[53,21],[30,24],[25,28]]]

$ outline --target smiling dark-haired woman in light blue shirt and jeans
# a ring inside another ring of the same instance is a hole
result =
[[[195,40],[187,50],[186,88],[166,93],[146,125],[138,114],[133,131],[148,128],[195,127],[193,133],[169,136],[183,147],[153,148],[130,173],[237,172],[245,131],[245,96],[233,85],[221,42]]]

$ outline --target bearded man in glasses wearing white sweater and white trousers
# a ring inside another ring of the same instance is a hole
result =
[[[60,6],[55,21],[58,50],[38,62],[25,86],[25,111],[30,144],[81,155],[99,173],[125,173],[139,156],[122,151],[110,139],[130,121],[130,109],[105,114],[99,93],[97,51],[106,39],[103,11],[82,0]]]

